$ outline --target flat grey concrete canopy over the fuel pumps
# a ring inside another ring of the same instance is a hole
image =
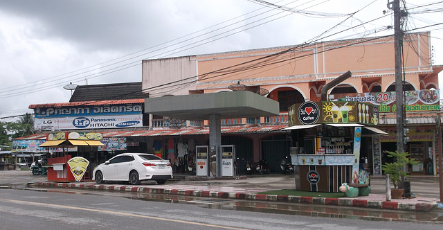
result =
[[[145,99],[145,113],[186,120],[204,120],[211,114],[221,119],[277,116],[278,101],[251,91],[163,96]]]

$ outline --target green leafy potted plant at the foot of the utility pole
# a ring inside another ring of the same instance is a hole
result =
[[[399,199],[403,195],[404,190],[399,189],[399,183],[403,177],[408,177],[409,172],[404,172],[404,166],[410,164],[417,164],[418,161],[414,161],[414,159],[410,159],[410,154],[408,152],[399,152],[396,150],[395,152],[386,151],[388,153],[388,157],[392,157],[394,162],[392,163],[383,163],[381,168],[385,172],[385,174],[390,175],[390,182],[394,186],[394,189],[391,189],[391,197],[392,199]]]

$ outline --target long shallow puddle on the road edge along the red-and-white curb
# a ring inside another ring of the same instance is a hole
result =
[[[345,206],[323,206],[309,204],[289,204],[280,202],[255,202],[246,200],[229,200],[217,197],[193,197],[184,195],[164,195],[154,193],[130,193],[125,191],[94,191],[66,188],[17,188],[30,191],[75,193],[85,195],[114,195],[135,200],[168,202],[172,204],[194,204],[204,209],[224,209],[275,213],[286,215],[305,215],[324,218],[350,218],[374,221],[410,221],[443,223],[443,210],[430,212],[393,211],[381,209],[352,208]]]

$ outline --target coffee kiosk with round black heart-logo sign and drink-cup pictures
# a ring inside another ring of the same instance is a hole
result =
[[[359,102],[311,102],[289,107],[289,127],[298,191],[338,192],[357,184],[363,129],[383,133],[378,107]]]

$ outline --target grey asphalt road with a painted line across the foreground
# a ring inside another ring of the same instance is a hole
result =
[[[120,195],[0,189],[0,229],[441,229],[441,224],[383,222],[208,209],[192,202]]]

